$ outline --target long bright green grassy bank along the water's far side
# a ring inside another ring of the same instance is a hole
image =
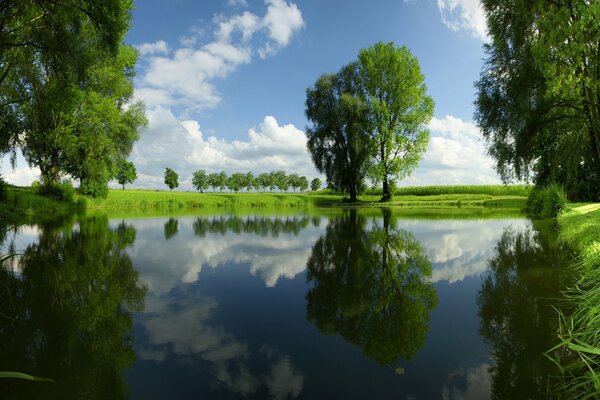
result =
[[[379,208],[395,207],[407,214],[446,214],[453,208],[466,217],[488,215],[499,210],[512,215],[525,207],[522,187],[503,186],[434,186],[399,189],[389,203],[380,203],[380,195],[371,193],[348,203],[343,196],[327,190],[309,193],[198,193],[159,190],[112,189],[105,199],[75,195],[71,202],[40,196],[29,187],[7,188],[6,201],[0,202],[0,220],[5,223],[30,222],[58,213],[99,210],[110,213],[164,215],[196,213],[200,210],[244,210],[287,208]],[[481,192],[481,193],[477,193]]]

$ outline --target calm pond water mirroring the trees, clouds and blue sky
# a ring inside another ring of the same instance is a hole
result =
[[[546,399],[570,261],[526,219],[73,217],[7,233],[2,399]]]

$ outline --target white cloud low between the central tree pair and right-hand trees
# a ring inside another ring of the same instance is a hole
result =
[[[427,152],[402,186],[501,183],[475,124],[447,115],[433,118],[429,129]]]

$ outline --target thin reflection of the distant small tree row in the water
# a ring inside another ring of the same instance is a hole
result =
[[[308,226],[310,220],[306,216],[288,216],[285,218],[271,218],[259,216],[214,216],[211,218],[197,218],[194,221],[194,234],[205,237],[208,233],[226,232],[252,233],[260,236],[278,237],[280,234],[298,235]]]

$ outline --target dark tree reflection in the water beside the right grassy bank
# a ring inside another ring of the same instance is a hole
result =
[[[571,259],[548,226],[507,228],[489,260],[490,275],[479,292],[480,331],[491,346],[494,399],[546,399],[557,371],[544,356],[556,342],[553,308],[568,286]]]

